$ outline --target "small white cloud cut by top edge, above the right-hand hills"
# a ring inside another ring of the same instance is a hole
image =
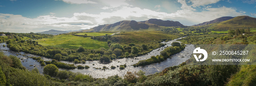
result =
[[[217,3],[220,0],[191,0],[192,7],[204,6],[208,4]]]

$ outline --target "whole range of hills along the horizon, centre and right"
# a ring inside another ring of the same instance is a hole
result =
[[[104,24],[95,26],[91,29],[86,30],[74,30],[69,32],[102,32],[102,31],[110,31],[110,32],[121,32],[121,31],[143,31],[143,30],[159,30],[162,28],[166,28],[169,26],[178,26],[181,28],[187,27],[182,25],[178,21],[169,21],[169,20],[160,20],[160,19],[149,19],[146,21],[134,21],[134,20],[123,20],[116,22],[114,24]],[[255,28],[256,27],[256,19],[254,17],[249,16],[237,16],[237,17],[220,17],[211,21],[203,22],[200,24],[192,25],[192,26],[206,26],[215,30],[229,30],[235,28]],[[61,34],[61,33],[69,33],[66,31],[59,30],[49,30],[45,32],[38,32],[42,34]]]

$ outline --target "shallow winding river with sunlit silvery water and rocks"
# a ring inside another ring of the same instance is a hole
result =
[[[183,37],[181,37],[181,38],[183,38]],[[178,39],[181,39],[181,38],[178,38]],[[146,59],[150,58],[151,56],[159,55],[163,49],[167,48],[167,46],[171,46],[170,44],[172,44],[172,42],[180,42],[180,41],[176,41],[178,39],[168,41],[168,42],[162,42],[163,44],[167,44],[167,45],[165,45],[161,48],[154,49],[146,55],[142,55],[142,56],[138,56],[138,57],[134,57],[134,58],[116,59],[116,60],[113,60],[109,64],[101,64],[101,62],[99,62],[99,61],[86,61],[85,64],[74,64],[74,65],[75,66],[88,65],[88,66],[90,66],[89,69],[72,69],[72,70],[71,69],[59,69],[59,70],[67,70],[67,71],[72,71],[72,72],[80,72],[83,74],[90,74],[94,78],[107,78],[108,76],[112,76],[112,75],[116,75],[116,74],[118,74],[118,76],[124,76],[127,73],[127,71],[133,72],[133,71],[139,71],[139,70],[144,71],[145,75],[154,74],[156,72],[162,71],[166,67],[176,66],[176,65],[181,64],[182,62],[185,62],[186,60],[188,60],[191,57],[191,54],[193,53],[193,50],[195,49],[195,47],[192,44],[188,44],[188,45],[186,45],[185,49],[182,50],[180,53],[174,54],[170,58],[167,58],[165,61],[158,62],[155,64],[139,66],[139,67],[133,67],[131,65],[138,63],[140,60],[146,60]],[[4,52],[5,55],[7,55],[7,56],[9,56],[9,55],[17,56],[17,54],[21,54],[21,55],[18,55],[17,57],[20,58],[22,65],[25,66],[27,69],[31,70],[35,66],[35,67],[37,67],[37,69],[39,70],[40,73],[43,72],[44,67],[41,66],[39,64],[39,62],[36,62],[32,58],[26,57],[26,56],[34,56],[34,57],[40,57],[40,56],[28,54],[25,52],[13,52],[9,48],[3,47],[3,45],[6,45],[6,43],[0,43],[0,45],[1,45],[0,50],[2,52]],[[23,56],[23,55],[25,55],[25,56]],[[41,57],[41,58],[45,61],[52,60],[52,59],[45,58],[45,57]],[[60,62],[67,63],[67,64],[73,64],[72,62],[69,62],[69,61],[60,61]],[[95,64],[95,65],[93,65],[93,64]],[[117,67],[116,69],[110,69],[111,66],[124,65],[124,64],[127,65],[127,67],[124,70],[120,70],[119,67]],[[30,65],[33,65],[33,66],[30,66]],[[93,67],[96,67],[96,68],[101,67],[102,68],[103,66],[109,67],[109,69],[99,70],[99,69],[93,68]]]

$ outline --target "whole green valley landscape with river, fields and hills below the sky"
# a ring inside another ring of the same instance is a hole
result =
[[[197,44],[255,44],[254,20],[221,17],[193,26],[124,20],[54,36],[3,32],[8,36],[0,37],[1,72],[11,83],[16,83],[15,74],[30,73],[47,85],[252,85],[255,78],[247,76],[255,72],[245,70],[255,66],[195,65],[192,53]],[[245,48],[254,54],[250,46]],[[46,73],[49,66],[56,74]]]

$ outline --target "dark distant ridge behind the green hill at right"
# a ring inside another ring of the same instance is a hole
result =
[[[217,18],[217,19],[215,19],[215,20],[203,22],[203,23],[200,23],[200,24],[197,24],[197,25],[192,25],[192,26],[204,26],[204,25],[209,25],[209,24],[213,24],[213,23],[218,23],[218,22],[230,20],[230,19],[233,19],[233,18],[234,18],[234,17],[225,16],[225,17],[220,17],[220,18]]]

